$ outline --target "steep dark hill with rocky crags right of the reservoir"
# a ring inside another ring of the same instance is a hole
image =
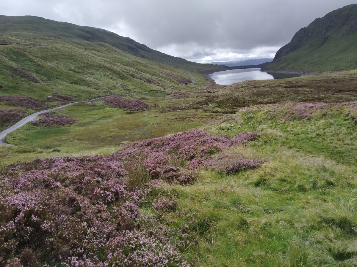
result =
[[[295,33],[265,70],[357,69],[357,4],[334,10]]]

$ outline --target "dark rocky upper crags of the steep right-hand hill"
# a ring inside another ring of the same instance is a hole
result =
[[[301,28],[295,33],[290,43],[278,50],[272,63],[277,63],[280,60],[286,63],[284,57],[292,52],[301,53],[301,57],[315,50],[317,53],[319,52],[317,49],[328,41],[335,42],[335,45],[338,46],[345,42],[345,39],[350,41],[351,38],[347,37],[353,35],[357,36],[357,4],[332,11],[324,17],[314,20],[309,26]],[[272,65],[274,64],[268,65],[267,68]]]

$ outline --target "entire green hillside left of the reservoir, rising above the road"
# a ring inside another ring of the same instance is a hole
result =
[[[0,130],[43,109],[44,103],[58,106],[162,90],[191,83],[188,71],[196,83],[209,84],[198,72],[219,68],[172,57],[99,28],[0,16],[0,111],[6,117]]]

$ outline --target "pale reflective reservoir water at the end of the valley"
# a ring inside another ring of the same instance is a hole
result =
[[[251,69],[230,69],[222,72],[208,74],[216,84],[231,85],[245,80],[271,80],[284,79],[300,76],[297,73],[268,73],[261,72],[260,68]]]

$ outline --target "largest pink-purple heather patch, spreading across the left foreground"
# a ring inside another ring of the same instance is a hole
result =
[[[189,266],[180,254],[188,236],[176,242],[160,219],[141,214],[152,202],[155,182],[128,185],[127,165],[132,161],[151,180],[188,184],[197,173],[185,168],[187,160],[189,167],[196,161],[193,168],[223,173],[258,167],[263,160],[212,155],[253,136],[192,130],[132,142],[110,156],[54,157],[2,168],[0,265]],[[178,204],[164,197],[152,207],[165,213]],[[187,223],[187,231],[190,227]]]

